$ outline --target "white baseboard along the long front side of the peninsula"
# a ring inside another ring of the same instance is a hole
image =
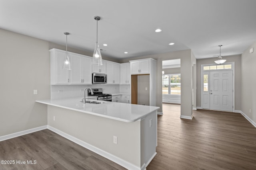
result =
[[[76,137],[73,137],[71,135],[68,135],[67,133],[64,133],[54,127],[51,127],[51,126],[47,126],[49,130],[57,133],[58,135],[61,135],[62,137],[70,140],[70,141],[73,141],[74,143],[86,148],[86,149],[89,149],[91,150],[92,152],[95,152],[109,160],[112,160],[113,162],[116,162],[117,164],[123,166],[124,168],[127,168],[127,169],[131,169],[131,170],[142,170],[141,168],[143,167],[138,167],[138,166],[135,166],[134,164],[131,164],[130,162],[127,162],[126,160],[123,160],[117,156],[114,156],[113,154],[110,154],[102,149],[99,149],[97,147],[94,147],[84,141],[81,141],[80,139],[77,139]],[[144,169],[143,169],[144,170]]]

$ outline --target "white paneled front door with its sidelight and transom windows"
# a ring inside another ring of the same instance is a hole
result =
[[[224,64],[221,67],[219,65],[202,66],[202,68],[202,109],[233,111],[234,68],[232,64]]]

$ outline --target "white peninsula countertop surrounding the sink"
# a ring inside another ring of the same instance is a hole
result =
[[[38,103],[48,104],[51,106],[62,107],[74,111],[80,111],[87,114],[97,115],[124,122],[134,122],[140,120],[152,111],[156,111],[160,107],[144,106],[136,104],[126,104],[118,102],[104,102],[103,104],[83,104],[80,102],[83,97],[54,99],[54,100],[36,100]]]

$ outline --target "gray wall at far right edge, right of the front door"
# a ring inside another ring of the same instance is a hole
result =
[[[254,48],[253,53],[249,53],[250,48]],[[242,54],[241,68],[241,110],[256,123],[256,43]]]

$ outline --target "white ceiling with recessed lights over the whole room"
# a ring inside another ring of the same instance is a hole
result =
[[[219,55],[218,45],[226,56],[254,43],[255,8],[256,0],[0,0],[0,28],[62,45],[69,32],[68,47],[93,53],[100,16],[102,56],[192,49],[202,59]]]

